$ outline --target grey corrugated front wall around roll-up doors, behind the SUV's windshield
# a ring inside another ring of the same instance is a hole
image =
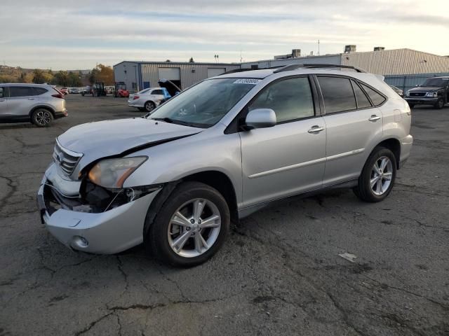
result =
[[[159,80],[159,68],[179,68],[181,77],[181,89],[198,83],[199,81],[208,78],[208,69],[225,68],[226,71],[240,69],[240,64],[220,64],[220,63],[175,63],[175,62],[161,62],[161,63],[141,63],[141,82],[149,82],[151,86],[157,86]],[[170,78],[167,78],[170,79]],[[142,87],[141,83],[141,87]]]

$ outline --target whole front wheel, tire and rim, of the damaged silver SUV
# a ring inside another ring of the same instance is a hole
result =
[[[177,186],[154,218],[145,244],[163,263],[199,265],[222,246],[229,230],[229,207],[214,188],[199,182]]]

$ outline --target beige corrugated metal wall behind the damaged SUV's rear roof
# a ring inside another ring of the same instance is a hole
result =
[[[356,66],[367,72],[380,75],[449,71],[449,57],[410,49],[351,52],[342,54],[342,64]]]

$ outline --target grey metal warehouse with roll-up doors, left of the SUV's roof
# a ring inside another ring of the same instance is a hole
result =
[[[123,61],[114,65],[114,78],[134,92],[159,86],[157,82],[161,78],[171,80],[183,90],[200,80],[235,69],[240,69],[240,64]]]

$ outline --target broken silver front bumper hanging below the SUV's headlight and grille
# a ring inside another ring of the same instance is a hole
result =
[[[59,180],[56,169],[51,165],[43,176],[37,204],[42,223],[62,244],[79,251],[112,254],[142,243],[145,216],[161,188],[102,212],[92,211],[88,205],[79,205],[76,196],[67,195],[76,188],[79,193],[81,183]]]

